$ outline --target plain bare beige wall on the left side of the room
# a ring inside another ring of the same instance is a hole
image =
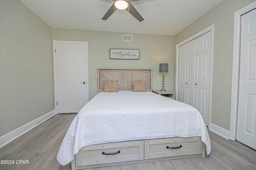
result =
[[[19,0],[1,0],[0,136],[52,110],[51,28]]]

